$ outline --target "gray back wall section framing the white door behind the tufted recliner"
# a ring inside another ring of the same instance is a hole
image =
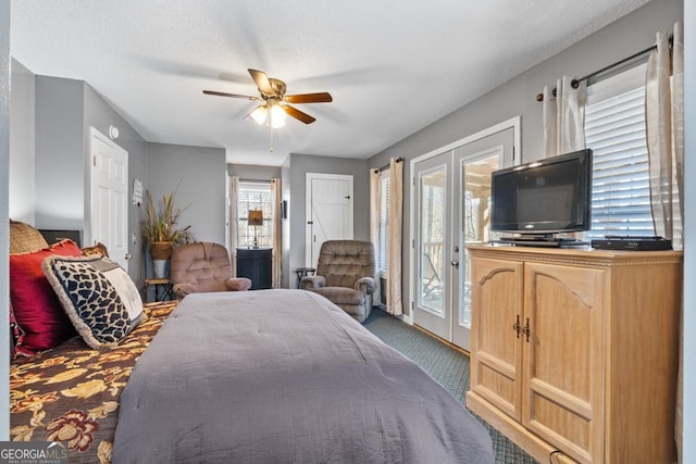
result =
[[[304,266],[304,233],[307,218],[306,203],[306,174],[345,174],[353,176],[353,237],[356,240],[368,240],[370,237],[370,210],[368,180],[368,162],[365,160],[347,160],[332,156],[310,156],[306,154],[290,154],[288,167],[289,193],[288,217],[289,239],[287,246],[287,267],[284,267],[284,280],[290,286],[295,285],[295,267]],[[285,198],[285,197],[284,197]],[[283,237],[285,240],[285,237]],[[285,259],[285,256],[284,256]],[[314,263],[315,264],[315,263]]]

